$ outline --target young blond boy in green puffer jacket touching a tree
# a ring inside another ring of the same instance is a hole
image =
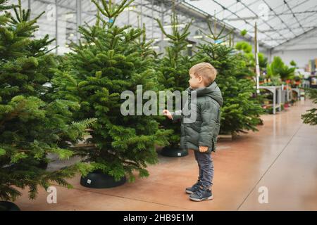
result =
[[[199,177],[196,184],[186,188],[189,199],[194,201],[211,200],[213,194],[213,159],[211,152],[216,150],[216,141],[220,129],[220,107],[223,105],[221,91],[215,79],[217,71],[210,63],[199,63],[189,70],[189,88],[187,89],[190,104],[191,98],[196,92],[196,120],[185,123],[185,115],[182,112],[170,113],[163,110],[163,114],[170,120],[181,119],[180,147],[194,150],[195,159],[198,162]]]

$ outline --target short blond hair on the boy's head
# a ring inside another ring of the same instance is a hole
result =
[[[189,70],[189,75],[195,77],[201,75],[204,80],[205,86],[212,84],[217,77],[217,70],[210,63],[198,63]]]

